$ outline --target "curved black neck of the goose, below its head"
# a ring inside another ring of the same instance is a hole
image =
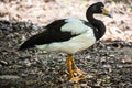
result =
[[[86,16],[87,16],[89,23],[91,23],[92,26],[95,26],[94,33],[95,33],[96,40],[101,38],[106,32],[105,24],[101,21],[96,20],[94,18],[94,13],[90,10],[87,11]]]

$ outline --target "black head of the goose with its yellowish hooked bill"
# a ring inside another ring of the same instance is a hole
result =
[[[89,9],[92,13],[100,13],[100,14],[105,14],[105,15],[108,15],[108,16],[112,18],[112,15],[105,8],[105,4],[102,2],[94,3],[92,6],[89,7]]]

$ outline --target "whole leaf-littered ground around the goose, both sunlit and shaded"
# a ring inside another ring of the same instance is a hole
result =
[[[113,19],[96,15],[102,18],[107,33],[90,48],[75,54],[77,66],[87,73],[87,78],[78,84],[68,81],[67,54],[36,48],[18,51],[26,38],[56,19],[86,19],[87,7],[96,1],[1,0],[0,88],[131,88],[131,0],[106,0]]]

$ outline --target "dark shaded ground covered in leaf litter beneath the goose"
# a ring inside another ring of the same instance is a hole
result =
[[[66,88],[66,87],[132,87],[132,43],[99,41],[89,50],[75,55],[77,66],[88,78],[68,81],[64,53],[38,50],[16,51],[33,33],[32,23],[1,21],[0,87]],[[29,25],[29,26],[26,26]],[[4,28],[6,26],[6,28]],[[11,29],[12,30],[8,30]],[[18,29],[21,28],[21,29]],[[42,28],[36,26],[42,30]]]

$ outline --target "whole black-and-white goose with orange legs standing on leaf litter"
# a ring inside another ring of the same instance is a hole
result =
[[[74,54],[87,50],[106,33],[106,25],[101,20],[95,19],[94,14],[105,14],[112,18],[105,3],[96,2],[89,6],[86,11],[88,21],[77,18],[55,20],[44,26],[44,31],[21,44],[19,51],[36,47],[48,52],[66,53],[69,80],[78,82],[86,78],[86,73],[76,66]]]

